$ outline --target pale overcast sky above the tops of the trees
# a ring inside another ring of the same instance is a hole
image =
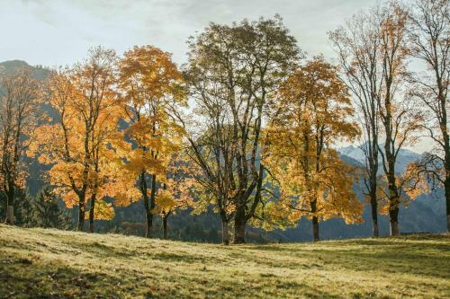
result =
[[[186,39],[208,22],[279,13],[310,55],[332,55],[327,31],[380,0],[0,0],[0,61],[69,65],[102,45],[151,44],[184,62]]]

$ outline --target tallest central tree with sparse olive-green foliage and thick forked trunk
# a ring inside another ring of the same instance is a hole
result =
[[[189,40],[186,82],[198,123],[188,140],[200,184],[220,214],[223,242],[233,222],[234,243],[260,206],[265,165],[262,128],[268,102],[299,58],[296,40],[279,17],[211,23]],[[205,192],[202,192],[205,194]]]

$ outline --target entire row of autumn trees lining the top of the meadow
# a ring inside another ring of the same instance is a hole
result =
[[[374,236],[379,213],[399,235],[401,205],[440,187],[450,229],[449,6],[391,1],[354,15],[329,32],[337,65],[306,59],[275,16],[211,23],[188,40],[180,68],[153,46],[120,57],[98,47],[44,83],[26,71],[4,75],[6,222],[14,224],[14,201],[26,200],[25,158],[37,157],[51,186],[38,198],[76,208],[79,231],[142,200],[146,237],[157,215],[166,238],[170,215],[212,208],[223,243],[245,242],[247,225],[284,228],[302,217],[318,241],[320,221],[362,221],[359,177]],[[422,136],[435,149],[396,170],[401,148]],[[362,169],[341,160],[339,142],[360,142]]]

